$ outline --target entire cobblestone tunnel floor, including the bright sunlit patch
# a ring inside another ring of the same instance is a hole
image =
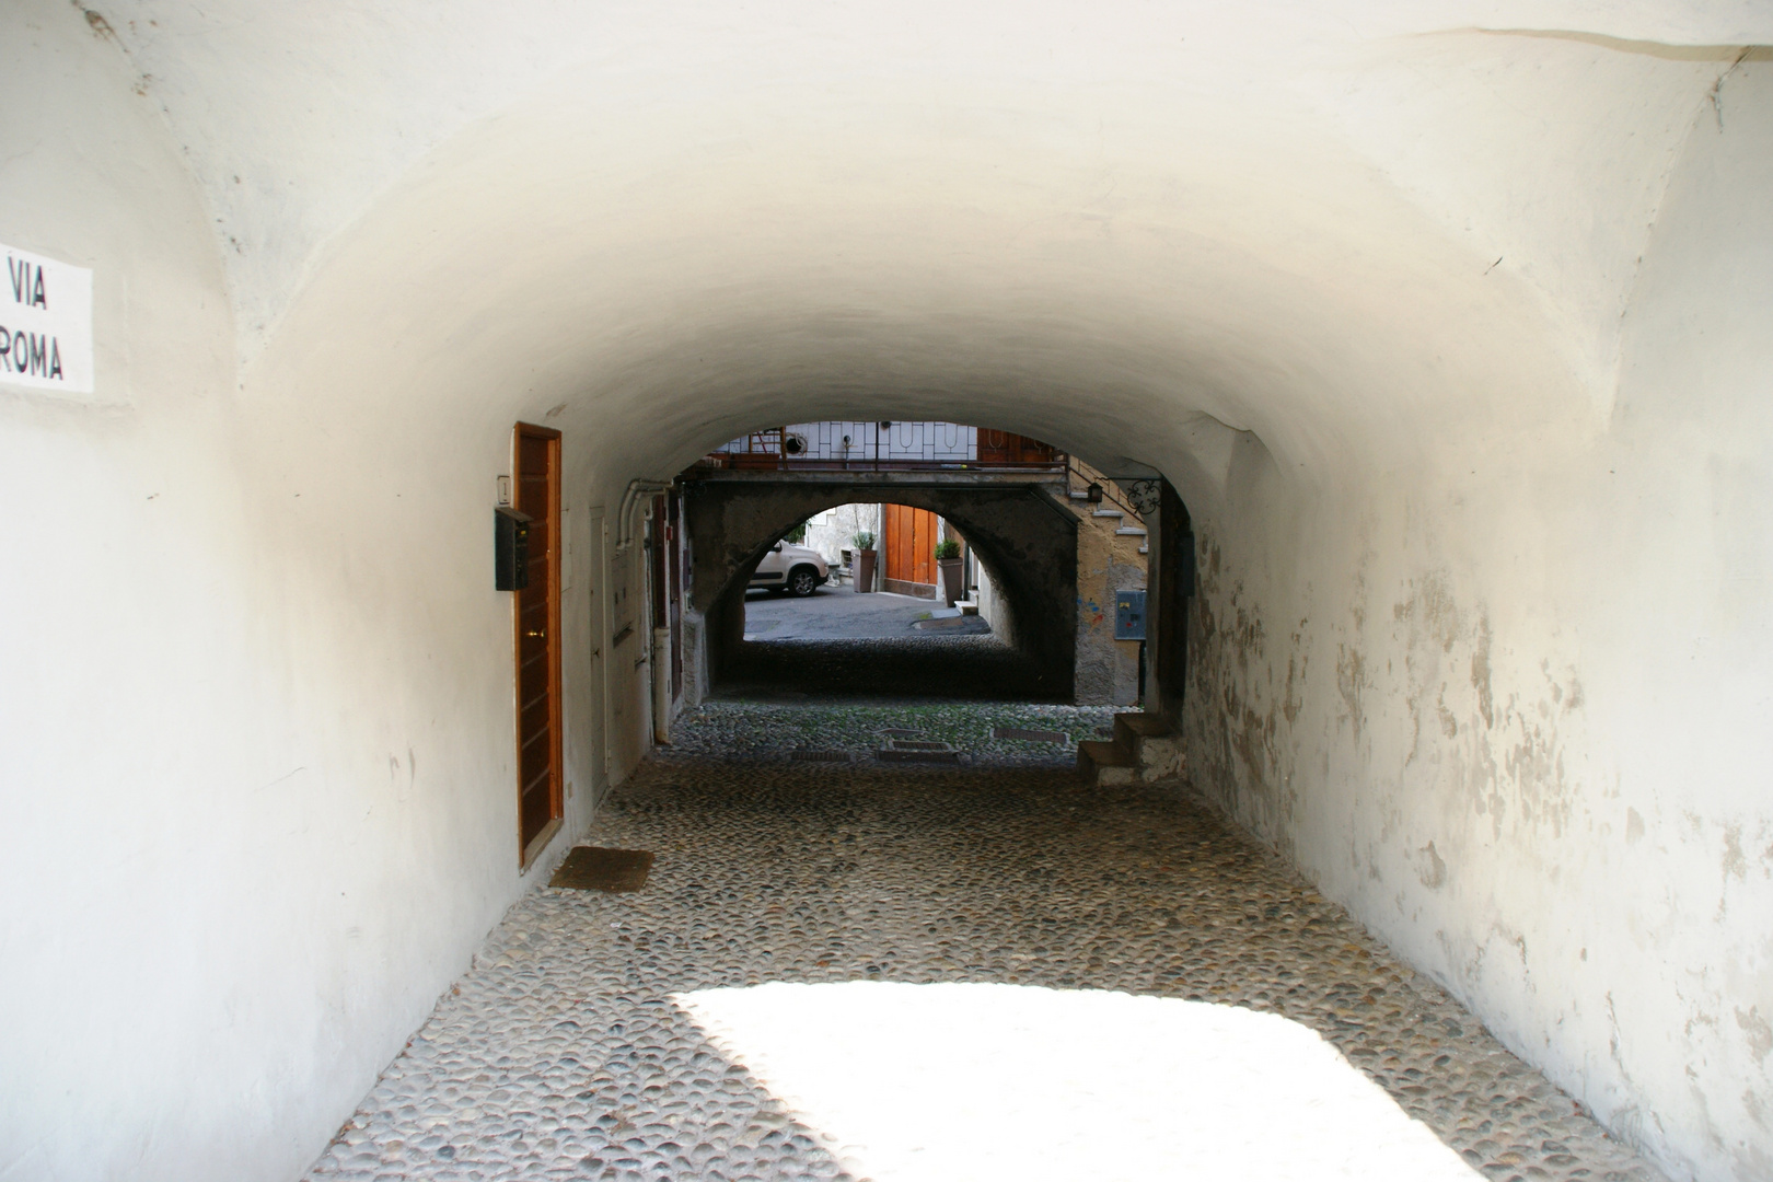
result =
[[[794,709],[688,716],[587,836],[645,888],[518,902],[309,1177],[1661,1177],[1184,785],[791,758]]]

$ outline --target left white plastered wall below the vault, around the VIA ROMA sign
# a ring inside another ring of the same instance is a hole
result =
[[[241,381],[115,44],[59,4],[0,5],[0,239],[92,268],[98,331],[92,397],[0,388],[0,1178],[289,1178],[528,886],[512,416],[328,406],[323,351]]]

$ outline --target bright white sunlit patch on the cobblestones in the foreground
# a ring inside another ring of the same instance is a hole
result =
[[[676,1001],[876,1182],[1482,1177],[1273,1014],[991,984],[768,984]]]

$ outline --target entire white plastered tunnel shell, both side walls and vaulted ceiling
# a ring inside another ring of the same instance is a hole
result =
[[[1766,1173],[1762,7],[4,19],[0,241],[101,344],[0,393],[0,1178],[294,1177],[532,881],[514,420],[590,569],[633,477],[956,404],[1183,491],[1204,790]],[[569,835],[640,553],[566,604]]]

